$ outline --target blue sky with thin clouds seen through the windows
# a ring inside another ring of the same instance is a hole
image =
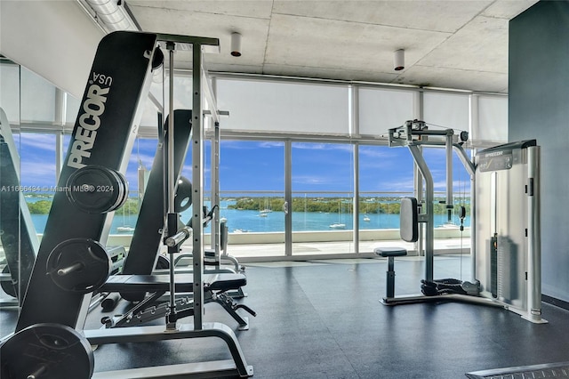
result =
[[[23,186],[55,184],[55,136],[25,133],[14,135],[21,155]],[[68,137],[65,139],[66,145]],[[284,142],[221,141],[221,190],[269,190],[284,193]],[[66,147],[67,149],[67,147]],[[205,147],[206,189],[210,181],[209,143]],[[126,178],[136,189],[138,162],[148,169],[156,153],[156,140],[135,141]],[[389,192],[413,189],[413,158],[406,148],[360,146],[360,191]],[[424,149],[424,156],[435,181],[435,190],[445,191],[445,150]],[[454,156],[455,157],[455,156]],[[191,155],[182,174],[191,179]],[[293,142],[293,192],[353,191],[352,147],[349,144]],[[469,186],[469,176],[459,159],[454,158],[454,190]]]

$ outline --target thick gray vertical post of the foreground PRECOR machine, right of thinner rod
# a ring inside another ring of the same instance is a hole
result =
[[[192,60],[192,227],[194,329],[203,328],[204,313],[204,118],[202,116],[202,44],[193,44]]]

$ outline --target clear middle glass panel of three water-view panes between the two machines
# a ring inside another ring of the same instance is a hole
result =
[[[345,254],[353,240],[353,147],[293,143],[293,254]]]

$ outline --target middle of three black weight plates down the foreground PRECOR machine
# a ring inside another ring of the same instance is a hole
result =
[[[47,258],[46,272],[61,289],[80,294],[102,286],[112,270],[112,260],[99,242],[72,238],[55,246]]]

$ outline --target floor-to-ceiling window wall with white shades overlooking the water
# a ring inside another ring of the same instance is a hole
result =
[[[4,66],[0,106],[20,148],[22,185],[53,186],[80,101],[28,71],[21,74],[17,65]],[[180,75],[175,83],[176,109],[191,108],[191,80]],[[19,96],[12,96],[12,86]],[[417,109],[432,127],[471,131],[475,146],[507,139],[504,96],[244,77],[218,78],[215,87],[219,108],[229,113],[220,120],[219,168],[219,218],[228,225],[229,254],[237,247],[239,255],[249,257],[371,253],[375,241],[398,239],[399,198],[412,195],[416,185],[413,159],[405,148],[386,146],[384,137]],[[158,145],[162,84],[155,83],[151,93],[139,137],[127,152],[125,175],[136,206]],[[204,202],[210,208],[211,150],[205,141]],[[445,191],[444,151],[425,149],[424,156],[439,201]],[[188,151],[182,169],[187,178],[190,160]],[[445,206],[437,205],[440,230],[460,224],[458,206],[469,213],[469,175],[456,162],[451,219]],[[115,213],[111,235],[132,233],[136,206]],[[189,220],[189,212],[182,213],[182,221]],[[469,215],[464,224],[468,228]]]

